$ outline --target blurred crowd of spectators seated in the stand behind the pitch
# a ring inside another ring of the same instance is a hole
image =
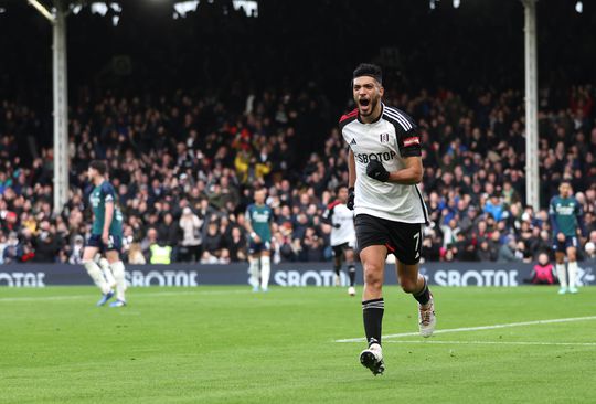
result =
[[[523,96],[476,91],[467,98],[444,89],[385,93],[385,103],[413,116],[422,132],[421,188],[430,214],[423,256],[535,261],[550,253],[552,234],[546,210],[524,206]],[[590,258],[595,88],[572,87],[564,103],[547,91],[540,98],[540,151],[532,158],[540,161],[541,203],[547,205],[562,179],[572,182],[588,230],[581,251]],[[91,224],[92,159],[109,162],[129,263],[245,261],[244,210],[257,187],[268,189],[275,213],[274,261],[330,259],[330,227],[320,217],[336,185],[348,182],[348,153],[336,127],[321,132],[316,124],[330,114],[327,104],[286,91],[237,94],[225,103],[183,92],[84,95],[70,116],[70,200],[53,214],[53,151],[35,142],[35,111],[3,100],[0,263],[79,262]]]

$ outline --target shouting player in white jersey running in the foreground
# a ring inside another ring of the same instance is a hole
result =
[[[433,295],[418,274],[423,225],[428,214],[417,183],[423,178],[421,136],[409,116],[384,105],[379,66],[361,64],[352,79],[356,109],[341,117],[350,147],[348,208],[355,213],[356,242],[364,267],[362,310],[369,348],[360,362],[373,374],[385,370],[381,349],[383,276],[389,253],[396,257],[403,290],[418,301],[423,337],[435,329]]]

